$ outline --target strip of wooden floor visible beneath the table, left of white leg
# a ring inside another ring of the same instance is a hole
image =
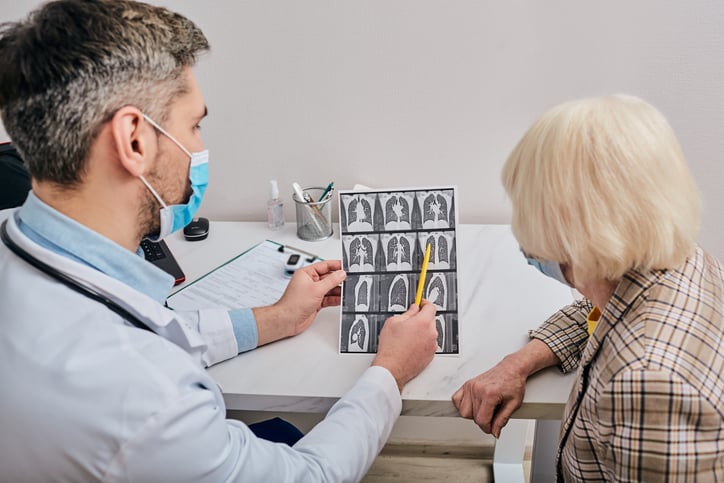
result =
[[[387,445],[363,483],[487,483],[493,481],[493,447]]]

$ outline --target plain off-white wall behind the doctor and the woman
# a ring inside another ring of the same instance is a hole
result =
[[[0,0],[2,20],[36,1]],[[659,107],[724,260],[724,3],[714,0],[158,0],[194,19],[210,117],[202,213],[264,219],[277,178],[457,184],[463,223],[509,222],[505,157],[546,108],[624,92]],[[4,135],[0,132],[0,135]]]

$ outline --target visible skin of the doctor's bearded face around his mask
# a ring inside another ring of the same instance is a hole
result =
[[[187,92],[178,96],[169,109],[165,121],[156,120],[161,127],[172,135],[191,153],[202,151],[204,142],[201,138],[199,123],[206,117],[207,109],[201,89],[192,70],[184,68]],[[156,189],[167,205],[186,203],[191,196],[189,181],[190,158],[179,146],[160,132],[156,133],[158,147],[154,167],[147,180]],[[150,193],[148,193],[150,195]],[[158,213],[160,206],[152,196],[148,197],[147,233],[154,233],[159,228]]]

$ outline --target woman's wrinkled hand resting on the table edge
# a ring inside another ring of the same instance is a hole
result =
[[[533,339],[508,354],[492,369],[467,381],[452,396],[460,416],[472,419],[483,432],[500,437],[510,416],[523,404],[528,377],[558,363],[543,342]]]

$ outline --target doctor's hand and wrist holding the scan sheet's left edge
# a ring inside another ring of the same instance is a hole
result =
[[[294,272],[274,305],[254,309],[258,345],[297,335],[312,324],[320,309],[339,305],[340,284],[347,278],[339,260],[325,260]]]

